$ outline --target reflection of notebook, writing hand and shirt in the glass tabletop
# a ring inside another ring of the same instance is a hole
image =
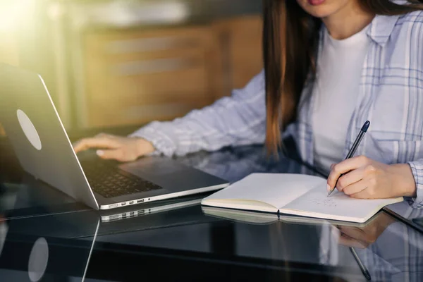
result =
[[[216,210],[205,210],[209,216],[222,216]],[[232,219],[225,215],[235,226],[239,256],[318,263],[357,272],[360,268],[353,247],[372,281],[423,281],[423,233],[386,212],[357,226],[240,211],[233,211]]]

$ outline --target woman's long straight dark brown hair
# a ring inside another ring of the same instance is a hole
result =
[[[423,0],[406,5],[391,0],[360,0],[376,15],[395,16],[423,9]],[[296,0],[263,1],[263,60],[266,85],[266,148],[281,146],[281,130],[295,120],[300,95],[316,74],[321,20],[306,13]]]

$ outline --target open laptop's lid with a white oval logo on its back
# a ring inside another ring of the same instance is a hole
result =
[[[0,63],[0,93],[0,122],[23,169],[99,209],[41,76]]]

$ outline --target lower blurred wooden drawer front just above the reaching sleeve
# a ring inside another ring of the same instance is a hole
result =
[[[94,90],[98,93],[87,101],[90,121],[118,125],[183,116],[211,102],[206,87],[207,73],[202,68],[110,78],[99,83]]]

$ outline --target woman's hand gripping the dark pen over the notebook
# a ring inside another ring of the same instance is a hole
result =
[[[339,177],[342,173],[346,174]],[[415,180],[408,164],[382,164],[364,156],[333,164],[327,183],[328,190],[336,184],[338,191],[354,198],[416,196]]]

